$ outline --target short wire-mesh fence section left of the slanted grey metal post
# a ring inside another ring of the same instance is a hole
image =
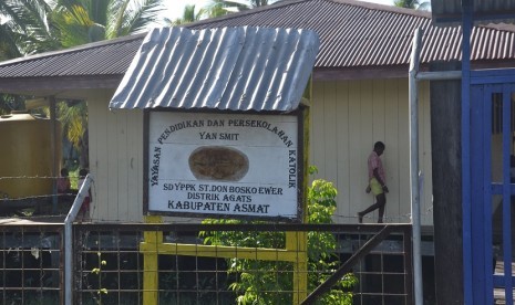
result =
[[[59,304],[63,225],[7,222],[0,225],[1,304]]]

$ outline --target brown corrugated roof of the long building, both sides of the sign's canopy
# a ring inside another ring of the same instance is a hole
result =
[[[442,3],[446,3],[446,0],[442,0]],[[320,36],[320,51],[315,63],[315,74],[327,69],[408,65],[413,32],[419,27],[424,30],[421,64],[461,60],[462,34],[459,27],[435,27],[431,22],[430,12],[352,0],[280,1],[250,11],[199,21],[187,28],[244,25],[316,31]],[[123,38],[0,63],[0,88],[2,78],[7,77],[121,75],[128,67],[143,38]],[[472,61],[513,61],[514,50],[514,25],[474,28]]]

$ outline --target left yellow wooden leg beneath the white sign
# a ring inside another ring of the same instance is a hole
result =
[[[163,218],[157,215],[145,217],[147,223],[163,223]],[[144,242],[151,245],[152,251],[143,252],[143,304],[157,305],[159,299],[159,273],[157,264],[157,246],[163,243],[163,232],[146,231],[143,233]],[[148,249],[148,248],[146,248]]]

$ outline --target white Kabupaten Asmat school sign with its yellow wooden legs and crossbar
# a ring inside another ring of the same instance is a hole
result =
[[[147,112],[147,222],[161,215],[306,222],[308,125],[308,107],[287,115]],[[140,246],[145,304],[158,299],[157,253],[291,262],[292,304],[308,295],[306,232],[286,232],[286,249],[178,245],[158,233],[146,232]]]

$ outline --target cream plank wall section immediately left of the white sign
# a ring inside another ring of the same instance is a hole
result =
[[[87,101],[95,221],[143,220],[143,112],[107,108],[112,92]]]

